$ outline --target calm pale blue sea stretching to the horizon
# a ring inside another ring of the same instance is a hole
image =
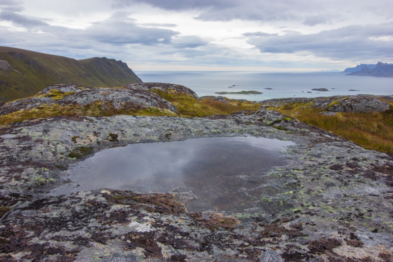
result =
[[[247,99],[251,101],[286,97],[320,97],[357,94],[393,95],[393,78],[345,76],[342,73],[216,71],[136,71],[135,73],[143,82],[162,82],[184,85],[194,90],[198,96],[217,96],[218,94],[215,94],[215,92],[237,92],[242,90],[255,90],[263,93],[261,95],[225,95],[227,98]],[[229,88],[229,86],[231,87]],[[311,89],[313,88],[327,88],[329,91],[312,91]],[[351,89],[358,91],[349,91]]]

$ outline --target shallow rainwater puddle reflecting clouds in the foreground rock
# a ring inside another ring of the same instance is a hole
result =
[[[253,207],[279,211],[277,205],[266,206],[277,189],[274,185],[266,186],[272,181],[266,181],[264,172],[285,165],[280,151],[289,145],[294,143],[248,136],[106,149],[66,171],[68,178],[80,186],[73,186],[74,182],[53,189],[52,193],[69,194],[103,187],[167,193],[178,188],[191,190],[198,197],[186,204],[189,211],[239,212]]]

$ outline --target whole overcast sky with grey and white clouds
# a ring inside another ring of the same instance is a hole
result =
[[[392,0],[0,0],[0,46],[133,70],[393,62]]]

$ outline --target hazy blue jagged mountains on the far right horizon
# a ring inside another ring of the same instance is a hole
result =
[[[378,62],[376,65],[360,64],[347,68],[343,73],[346,76],[393,77],[393,64]]]

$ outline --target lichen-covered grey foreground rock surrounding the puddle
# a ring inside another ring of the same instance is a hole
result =
[[[107,148],[245,135],[295,145],[239,213],[188,212],[192,192],[49,192],[78,186],[65,169]],[[270,110],[15,123],[0,130],[0,165],[0,261],[392,260],[392,156]]]

